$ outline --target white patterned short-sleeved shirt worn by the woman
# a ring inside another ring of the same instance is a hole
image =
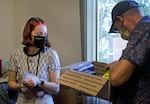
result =
[[[27,55],[24,49],[24,47],[17,48],[10,56],[9,70],[17,73],[17,81],[19,83],[22,83],[25,73],[32,73],[37,77],[48,81],[49,73],[51,71],[60,70],[59,57],[55,50],[44,47],[43,52],[39,52],[35,55]],[[39,102],[38,97],[35,96],[26,99],[22,92],[19,92],[17,104],[53,104],[50,94],[46,94],[43,99],[43,103]],[[50,103],[49,100],[52,103]],[[42,101],[41,98],[40,101]],[[49,103],[46,103],[46,101]]]

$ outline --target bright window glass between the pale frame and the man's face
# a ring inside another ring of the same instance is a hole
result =
[[[109,63],[118,60],[126,46],[126,41],[122,40],[119,34],[108,33],[111,26],[111,10],[116,2],[97,0],[97,61]]]

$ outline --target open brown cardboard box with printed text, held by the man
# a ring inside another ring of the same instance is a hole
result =
[[[101,62],[93,62],[92,64],[96,75],[66,69],[59,79],[60,84],[75,89],[84,95],[111,101],[111,85],[109,80],[103,77],[106,72],[104,68],[106,64]]]

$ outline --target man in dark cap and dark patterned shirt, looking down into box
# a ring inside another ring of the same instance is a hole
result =
[[[109,33],[128,40],[120,59],[106,66],[117,88],[113,104],[150,104],[150,17],[135,1],[121,1],[112,10]]]

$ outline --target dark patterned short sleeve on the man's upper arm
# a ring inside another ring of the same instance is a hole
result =
[[[150,49],[149,44],[150,24],[139,24],[132,32],[121,59],[127,59],[130,62],[141,65],[146,52]]]

